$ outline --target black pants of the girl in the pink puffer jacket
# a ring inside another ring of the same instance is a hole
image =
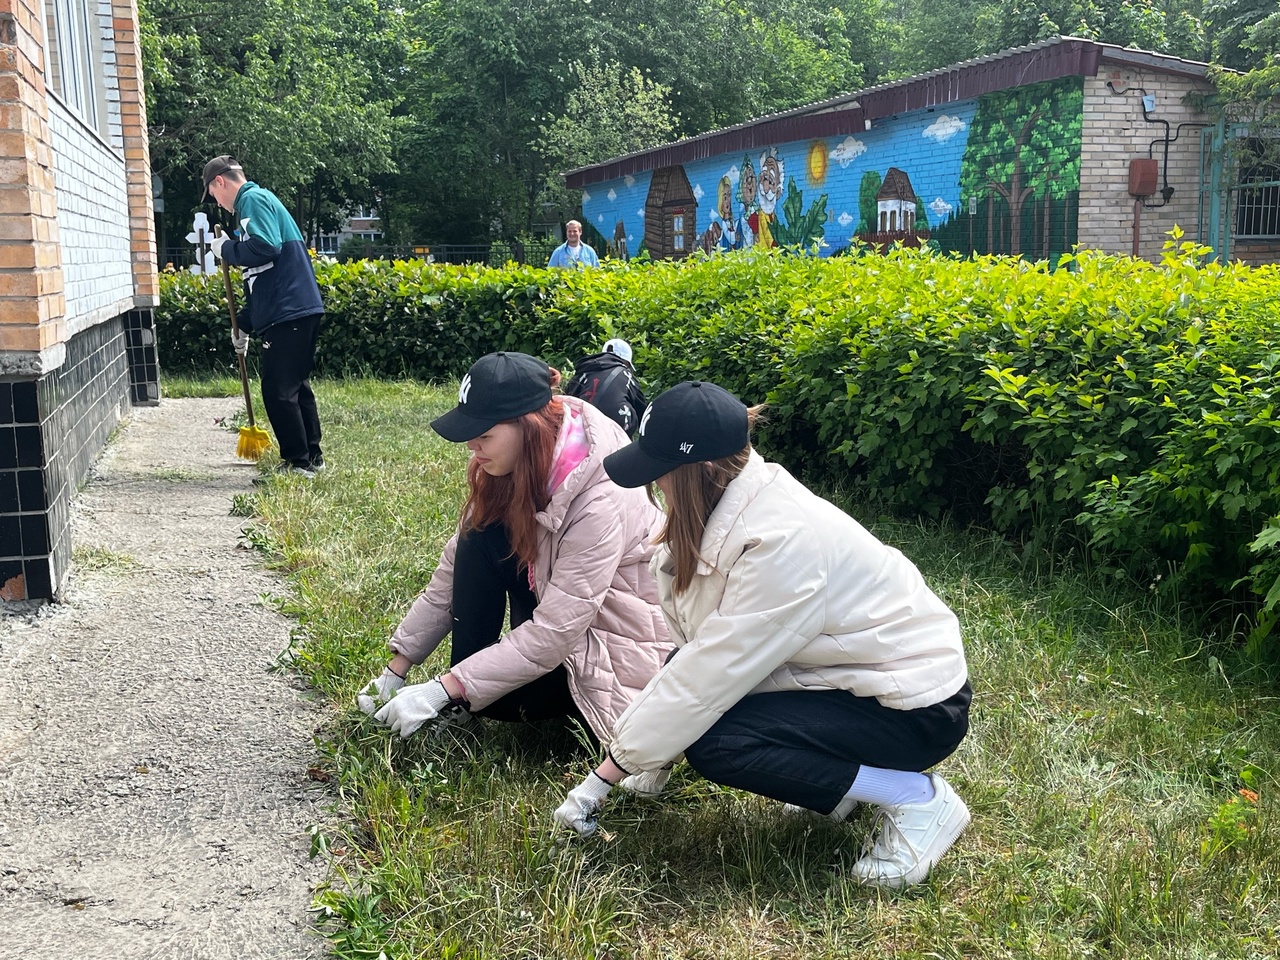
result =
[[[502,621],[511,604],[511,626],[534,616],[538,595],[529,588],[529,573],[518,568],[507,527],[492,524],[458,536],[453,556],[453,645],[449,666],[457,666],[476,650],[502,639]],[[564,666],[556,667],[477,710],[500,721],[540,721],[567,717],[590,730],[568,691]]]

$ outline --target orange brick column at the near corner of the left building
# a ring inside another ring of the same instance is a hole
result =
[[[65,355],[44,36],[40,0],[0,0],[0,375],[40,375]]]

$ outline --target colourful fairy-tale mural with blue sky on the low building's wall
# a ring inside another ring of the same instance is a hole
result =
[[[622,257],[904,243],[1052,260],[1076,238],[1082,109],[1079,77],[1016,87],[591,184],[584,218]]]

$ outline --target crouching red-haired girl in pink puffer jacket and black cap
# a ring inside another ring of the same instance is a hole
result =
[[[541,360],[490,353],[431,422],[471,451],[470,494],[390,639],[390,663],[358,698],[402,737],[472,714],[568,717],[607,744],[669,649],[649,572],[663,513],[609,480],[603,460],[626,434],[589,403],[553,396],[558,381]],[[449,669],[406,686],[410,666],[448,634]]]

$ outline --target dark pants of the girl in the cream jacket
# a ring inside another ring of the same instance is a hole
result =
[[[861,764],[923,772],[969,731],[969,684],[932,707],[892,710],[844,690],[744,696],[685,751],[707,780],[831,813]]]

